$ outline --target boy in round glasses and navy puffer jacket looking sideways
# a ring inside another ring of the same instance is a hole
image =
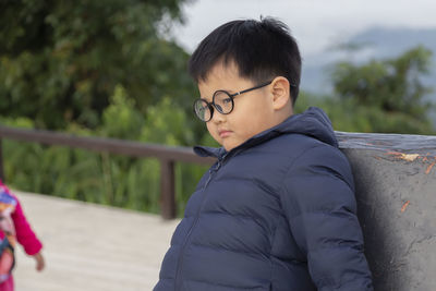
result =
[[[293,114],[301,58],[274,19],[194,51],[195,113],[221,148],[174,231],[155,291],[373,290],[353,177],[327,116]]]

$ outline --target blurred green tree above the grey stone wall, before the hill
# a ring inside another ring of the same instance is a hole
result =
[[[433,133],[429,112],[434,106],[425,100],[432,88],[422,83],[431,57],[420,46],[397,58],[335,64],[336,97],[323,101],[334,125],[349,131]]]

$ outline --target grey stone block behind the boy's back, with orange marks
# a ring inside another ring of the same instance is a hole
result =
[[[337,132],[375,290],[436,290],[436,136]]]

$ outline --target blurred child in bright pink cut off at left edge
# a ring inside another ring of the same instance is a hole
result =
[[[12,269],[16,241],[35,258],[36,269],[43,270],[43,244],[31,229],[17,197],[0,180],[0,291],[14,290]]]

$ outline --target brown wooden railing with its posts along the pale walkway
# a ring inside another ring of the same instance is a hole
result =
[[[174,163],[178,161],[211,165],[213,158],[196,156],[189,147],[170,147],[162,145],[129,142],[114,138],[82,137],[71,134],[55,133],[43,130],[13,129],[0,125],[0,178],[4,181],[2,138],[39,143],[45,145],[83,148],[98,153],[110,153],[130,157],[153,157],[160,161],[160,206],[161,216],[172,219],[175,213]]]

